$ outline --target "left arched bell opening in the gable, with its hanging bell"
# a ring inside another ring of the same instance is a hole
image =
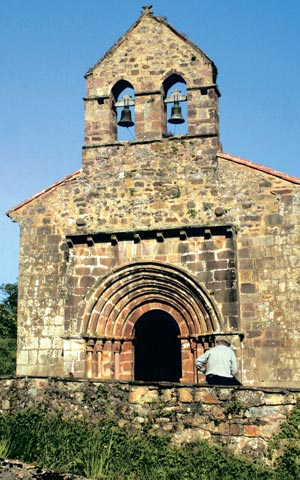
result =
[[[119,80],[112,88],[112,112],[115,119],[116,140],[135,139],[135,94],[127,80]]]

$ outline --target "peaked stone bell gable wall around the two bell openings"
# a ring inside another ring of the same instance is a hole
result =
[[[212,61],[164,19],[145,15],[86,75],[85,145],[116,141],[113,92],[124,81],[135,93],[136,139],[161,138],[167,132],[164,83],[173,74],[186,83],[189,134],[218,137]]]

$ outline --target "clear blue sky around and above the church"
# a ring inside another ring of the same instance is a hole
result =
[[[5,212],[80,168],[83,75],[145,4],[1,0],[0,284],[18,275]],[[218,67],[223,151],[300,177],[299,0],[152,4]]]

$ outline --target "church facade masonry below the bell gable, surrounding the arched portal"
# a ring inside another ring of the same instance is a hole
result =
[[[73,325],[82,319],[76,302],[85,301],[101,275],[146,251],[147,242],[132,241],[131,257],[116,256],[111,245],[97,257],[98,247],[86,244],[81,260],[76,254],[76,275],[71,275],[70,254],[79,247],[66,250],[67,236],[232,225],[237,277],[226,281],[237,289],[237,329],[245,335],[241,380],[299,385],[299,186],[222,154],[216,168],[202,148],[202,139],[178,138],[99,148],[98,153],[88,149],[85,173],[14,212],[21,224],[19,374],[67,375],[63,338],[70,319]],[[177,252],[176,262],[200,284],[212,276],[215,284],[207,285],[208,293],[222,311],[214,262],[226,250],[195,249],[189,239],[183,244],[186,250]],[[147,260],[157,259],[162,245],[153,244]]]

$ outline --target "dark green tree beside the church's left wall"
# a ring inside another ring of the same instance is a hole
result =
[[[0,375],[14,375],[17,348],[18,284],[0,285]]]

